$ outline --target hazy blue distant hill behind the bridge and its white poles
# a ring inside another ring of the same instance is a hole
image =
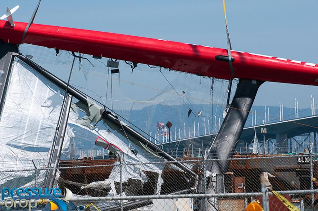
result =
[[[270,122],[279,121],[279,106],[266,106],[266,114],[270,115]],[[255,117],[254,112],[256,111],[256,124],[263,124],[263,120],[265,122],[265,107],[264,106],[252,106],[253,111],[253,125],[255,125]],[[223,106],[210,105],[210,104],[193,104],[191,106],[192,112],[188,117],[189,108],[186,105],[150,105],[144,107],[141,110],[118,110],[119,114],[125,114],[125,118],[127,118],[130,122],[138,126],[143,131],[157,133],[156,124],[157,122],[167,123],[170,121],[173,126],[171,130],[174,134],[174,130],[176,127],[177,134],[179,133],[179,128],[181,130],[182,137],[184,136],[184,124],[186,128],[186,136],[188,136],[189,127],[190,133],[194,133],[194,121],[197,135],[197,127],[198,123],[200,124],[200,135],[204,134],[204,119],[206,122],[206,133],[208,133],[208,121],[210,121],[210,131],[215,132],[215,115],[216,115],[216,125],[217,130],[219,128],[219,118],[222,124],[223,118],[222,113],[224,110]],[[197,112],[202,111],[200,117],[197,117]],[[284,120],[287,119],[295,119],[295,109],[284,107]],[[318,114],[317,110],[316,113]],[[310,107],[308,109],[299,110],[299,118],[306,117],[311,115]],[[249,115],[245,127],[252,126],[251,114]],[[268,119],[266,119],[268,123]],[[174,136],[174,135],[173,135]]]

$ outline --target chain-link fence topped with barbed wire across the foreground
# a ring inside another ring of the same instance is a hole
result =
[[[48,168],[43,163],[28,168],[6,167],[0,171],[0,181],[2,190],[41,188],[41,193],[46,174],[53,172],[54,188],[60,188],[63,194],[65,188],[72,191],[70,203],[76,205],[74,209],[243,211],[255,202],[265,211],[288,210],[288,205],[284,205],[288,202],[266,189],[271,186],[299,210],[316,210],[317,156],[237,154],[226,160],[179,158],[177,162],[195,173],[189,174],[176,162],[126,163],[118,155],[107,154],[103,156],[107,159],[101,160],[60,160],[58,168]],[[213,173],[213,162],[227,163],[228,170],[224,174]],[[156,166],[157,171],[149,166]],[[268,181],[265,178],[261,182],[264,172],[269,173]],[[8,193],[2,192],[2,197],[6,196]]]

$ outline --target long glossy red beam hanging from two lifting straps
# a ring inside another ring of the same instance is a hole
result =
[[[27,23],[0,21],[0,39],[20,44]],[[136,37],[108,32],[31,24],[23,43],[57,48],[107,58],[158,65],[171,70],[229,79],[228,62],[216,55],[227,56],[227,50],[208,46]],[[316,64],[231,51],[236,78],[318,85]]]

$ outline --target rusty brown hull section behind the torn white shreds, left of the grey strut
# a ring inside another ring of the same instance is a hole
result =
[[[58,179],[58,185],[60,188],[69,188],[73,193],[79,195],[91,195],[91,196],[107,196],[110,191],[110,187],[106,187],[102,190],[96,189],[81,189],[94,181],[103,181],[108,179],[113,165],[117,161],[113,160],[91,160],[90,158],[84,158],[80,160],[60,160],[59,167],[79,167],[79,168],[61,168],[60,176]],[[200,161],[196,163],[198,166]],[[192,162],[193,164],[193,162]],[[97,166],[99,167],[87,167]],[[197,171],[197,167],[193,170]],[[129,179],[128,182],[123,183],[123,190],[126,195],[151,195],[156,193],[157,181],[159,173],[151,171],[143,171],[148,181],[142,184],[141,180]],[[169,194],[181,190],[191,189],[194,186],[194,181],[186,179],[184,174],[174,168],[169,167],[169,163],[165,165],[161,175],[163,184],[161,186],[161,194]],[[120,192],[120,183],[115,182],[116,192]]]

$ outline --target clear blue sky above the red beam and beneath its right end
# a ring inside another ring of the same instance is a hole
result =
[[[17,4],[14,20],[28,22],[37,1],[2,0],[0,11]],[[232,48],[317,63],[317,8],[314,0],[226,0]],[[222,0],[43,0],[34,23],[226,48]],[[318,102],[317,87],[266,82],[254,104],[293,107],[297,98],[303,108],[311,94]]]

